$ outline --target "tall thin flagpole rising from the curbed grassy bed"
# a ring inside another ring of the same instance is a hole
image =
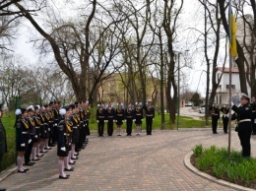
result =
[[[229,10],[231,9],[231,0],[229,0],[228,2],[228,27],[229,27],[229,41],[231,41],[231,29],[232,29],[232,22],[230,21],[230,16],[229,16]],[[231,49],[229,49],[229,115],[228,115],[228,149],[227,149],[227,153],[228,156],[230,155],[230,150],[231,150],[231,85],[232,85],[232,73],[231,73],[231,68],[232,68],[232,55],[231,55]]]

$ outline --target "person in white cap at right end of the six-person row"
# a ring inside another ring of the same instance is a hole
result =
[[[143,108],[145,109],[147,135],[152,135],[152,124],[155,118],[155,108],[152,106],[152,100],[148,99]]]

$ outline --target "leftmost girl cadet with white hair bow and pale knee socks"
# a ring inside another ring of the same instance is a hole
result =
[[[17,115],[16,149],[18,151],[18,157],[17,157],[18,172],[25,173],[25,172],[27,172],[28,169],[23,166],[23,159],[24,159],[26,150],[28,148],[29,139],[30,139],[29,124],[26,120],[26,117],[28,115],[27,109],[26,108],[18,108],[18,109],[16,109],[15,114]]]

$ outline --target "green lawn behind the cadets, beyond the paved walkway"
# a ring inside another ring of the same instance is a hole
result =
[[[7,134],[7,147],[8,153],[4,155],[3,159],[0,161],[0,171],[6,169],[8,166],[12,165],[16,162],[16,132],[14,128],[15,124],[15,114],[14,111],[5,113],[2,118],[3,125],[6,129]],[[155,120],[153,122],[153,129],[160,129],[161,120],[160,114],[156,114]],[[204,126],[204,121],[202,120],[194,120],[191,117],[180,116],[179,117],[179,128],[192,128],[192,127],[202,127]],[[135,125],[133,125],[135,128]],[[114,129],[116,126],[114,125]],[[125,123],[123,124],[123,129],[125,129]],[[146,129],[146,120],[143,120],[143,129]],[[165,128],[166,129],[175,129],[177,128],[176,124],[169,124],[169,115],[165,114]],[[91,109],[91,117],[90,117],[90,129],[92,131],[97,130],[96,123],[96,109]]]

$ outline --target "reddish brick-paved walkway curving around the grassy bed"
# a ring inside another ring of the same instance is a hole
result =
[[[152,136],[90,136],[69,180],[58,178],[56,147],[37,161],[27,173],[16,171],[0,182],[7,191],[19,190],[237,190],[226,187],[189,170],[184,158],[196,145],[227,147],[227,135],[221,129],[154,131]],[[240,150],[236,133],[231,134],[232,149]],[[252,137],[256,156],[256,137]]]

